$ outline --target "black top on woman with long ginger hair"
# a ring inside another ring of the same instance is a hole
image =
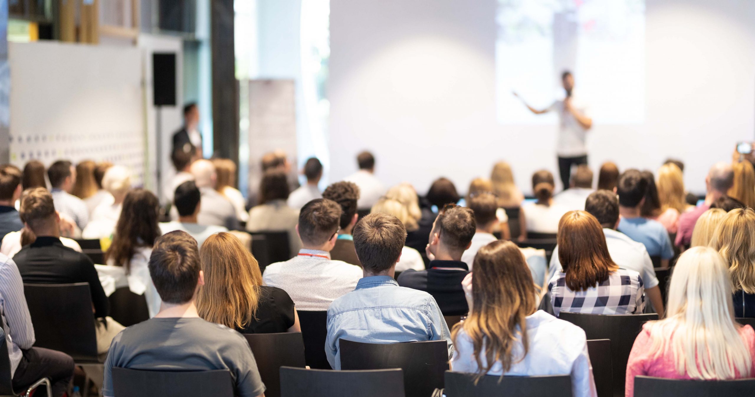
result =
[[[274,334],[288,331],[294,325],[294,301],[278,287],[260,286],[260,302],[257,317],[242,329],[242,334]]]

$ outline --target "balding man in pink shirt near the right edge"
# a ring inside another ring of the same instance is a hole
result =
[[[681,167],[680,167],[681,168]],[[710,209],[710,204],[719,197],[726,196],[734,185],[734,171],[729,163],[716,163],[710,168],[705,177],[705,201],[692,211],[685,212],[679,217],[679,228],[676,230],[676,246],[689,246],[692,240],[692,231],[695,230],[695,222],[703,212]]]

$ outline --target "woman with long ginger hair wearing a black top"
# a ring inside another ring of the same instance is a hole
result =
[[[299,332],[294,301],[282,289],[263,286],[257,259],[233,234],[213,234],[199,251],[205,285],[199,316],[244,334]]]

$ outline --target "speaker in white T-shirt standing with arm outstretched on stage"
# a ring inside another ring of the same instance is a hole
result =
[[[573,95],[574,75],[568,70],[561,74],[561,84],[566,96],[562,100],[553,102],[548,108],[538,110],[525,103],[535,115],[541,115],[548,111],[557,111],[559,114],[559,138],[556,144],[556,152],[559,157],[559,174],[563,187],[569,186],[569,176],[572,174],[572,166],[587,164],[587,147],[585,138],[587,130],[593,127],[593,119],[587,114],[587,105],[580,102]],[[514,95],[518,96],[516,93]]]

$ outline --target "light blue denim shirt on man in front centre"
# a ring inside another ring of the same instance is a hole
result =
[[[341,369],[340,339],[365,344],[448,341],[448,357],[454,351],[451,333],[433,295],[399,287],[393,277],[360,279],[356,289],[337,298],[328,308],[325,355],[333,369]]]

